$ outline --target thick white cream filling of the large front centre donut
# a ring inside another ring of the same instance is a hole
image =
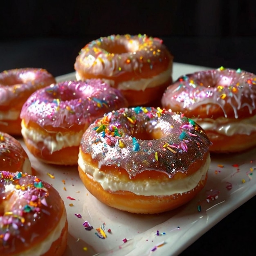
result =
[[[204,179],[209,166],[210,155],[207,161],[200,169],[189,175],[186,178],[180,180],[168,180],[167,182],[155,182],[154,180],[145,181],[128,181],[122,182],[118,177],[113,177],[108,173],[102,172],[99,168],[94,168],[87,164],[79,153],[78,165],[84,173],[88,173],[93,177],[94,181],[99,182],[102,188],[106,191],[130,191],[136,195],[172,195],[181,194],[191,189],[194,189],[200,180]],[[90,177],[89,176],[89,177]]]

